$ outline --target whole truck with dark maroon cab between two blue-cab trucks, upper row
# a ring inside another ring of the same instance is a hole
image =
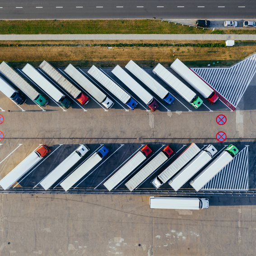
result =
[[[152,112],[158,109],[158,103],[155,101],[153,96],[138,84],[129,74],[127,74],[119,65],[116,65],[111,72],[132,92],[134,92]]]

